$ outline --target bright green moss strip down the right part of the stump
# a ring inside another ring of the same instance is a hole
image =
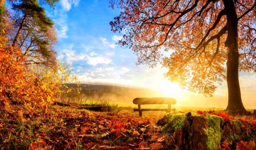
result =
[[[207,123],[209,125],[208,128],[205,128],[205,134],[208,136],[206,144],[207,148],[212,149],[218,149],[218,145],[220,145],[221,142],[221,128],[220,125],[223,121],[221,117],[218,117],[216,115],[207,115],[205,117],[207,120]]]

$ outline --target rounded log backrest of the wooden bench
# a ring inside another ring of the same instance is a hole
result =
[[[176,104],[177,100],[170,97],[142,97],[135,98],[133,104],[147,105],[147,104]]]

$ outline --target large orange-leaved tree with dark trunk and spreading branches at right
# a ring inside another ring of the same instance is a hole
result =
[[[110,22],[119,44],[138,64],[161,62],[165,76],[189,91],[212,96],[228,83],[226,110],[246,112],[238,71],[256,72],[255,0],[111,0],[123,10]],[[162,51],[172,50],[164,57]],[[225,65],[226,63],[226,65]]]

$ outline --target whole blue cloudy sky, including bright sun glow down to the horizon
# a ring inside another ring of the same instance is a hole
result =
[[[56,26],[57,61],[71,63],[73,74],[81,83],[112,84],[125,87],[144,87],[163,91],[162,96],[175,97],[179,105],[225,108],[228,90],[226,82],[211,98],[181,91],[176,83],[163,77],[166,68],[136,66],[131,49],[116,45],[122,38],[110,31],[109,22],[121,10],[109,8],[108,0],[60,0],[55,8],[46,6],[46,14]],[[240,85],[245,108],[256,105],[256,76],[240,72]]]

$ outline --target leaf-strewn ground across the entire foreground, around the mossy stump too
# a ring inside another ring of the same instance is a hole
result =
[[[181,138],[187,136],[183,134],[187,130],[186,123],[192,119],[189,116],[196,116],[197,122],[208,125],[208,128],[202,128],[202,135],[210,137],[205,138],[207,149],[255,149],[256,121],[253,115],[230,117],[224,112],[213,111],[164,114],[143,112],[143,117],[138,117],[132,110],[92,112],[57,105],[49,106],[48,114],[40,109],[27,113],[1,110],[0,149],[184,149]],[[216,118],[220,122],[214,121]],[[223,126],[218,128],[214,123]],[[191,134],[196,135],[196,125],[199,124],[191,126]],[[230,128],[237,131],[232,134],[228,132],[233,131]],[[240,139],[242,134],[239,133],[243,130],[248,131],[247,137],[251,139]],[[228,132],[229,136],[218,136],[222,131]],[[202,136],[198,139],[202,140]],[[213,143],[216,139],[221,140]]]

